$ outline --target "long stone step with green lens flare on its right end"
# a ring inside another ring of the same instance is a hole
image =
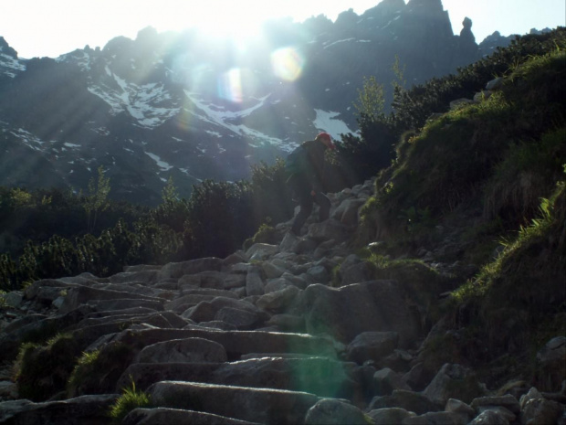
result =
[[[367,372],[367,373],[366,373]],[[116,391],[145,390],[161,380],[304,391],[326,398],[348,398],[365,406],[372,399],[372,367],[322,357],[264,357],[226,363],[136,363],[118,380]],[[369,376],[367,376],[369,375]]]

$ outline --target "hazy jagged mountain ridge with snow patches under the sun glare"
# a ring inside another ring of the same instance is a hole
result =
[[[55,59],[18,58],[0,38],[0,183],[86,190],[102,165],[114,199],[154,206],[170,176],[188,197],[206,178],[246,178],[320,130],[354,133],[363,77],[383,82],[390,101],[395,55],[409,85],[421,84],[508,42],[478,46],[471,21],[455,35],[440,0],[385,0],[362,16],[265,31],[236,50],[148,27]]]

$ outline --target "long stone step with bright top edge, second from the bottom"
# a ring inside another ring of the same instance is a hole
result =
[[[313,394],[197,382],[161,381],[147,390],[162,408],[187,409],[263,424],[297,425],[319,401]]]

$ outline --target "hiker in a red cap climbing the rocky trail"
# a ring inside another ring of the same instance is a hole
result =
[[[300,235],[300,229],[312,212],[312,203],[319,207],[319,219],[324,221],[330,215],[330,199],[322,192],[324,190],[324,153],[334,149],[334,143],[329,133],[319,133],[314,140],[303,142],[293,152],[288,154],[285,169],[288,172],[287,184],[299,201],[299,213],[293,219],[290,228],[295,236]]]

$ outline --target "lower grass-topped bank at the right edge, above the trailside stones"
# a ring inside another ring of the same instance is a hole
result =
[[[473,312],[476,337],[492,356],[519,348],[536,352],[549,336],[566,332],[563,321],[556,323],[566,315],[565,188],[561,182],[542,200],[540,217],[521,227],[515,239],[503,241],[498,258],[453,293],[456,305]]]

